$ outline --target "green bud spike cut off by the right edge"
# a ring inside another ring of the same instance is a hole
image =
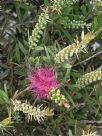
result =
[[[102,71],[93,71],[79,78],[76,84],[78,85],[79,88],[84,88],[87,85],[90,85],[94,82],[101,80],[102,80]]]

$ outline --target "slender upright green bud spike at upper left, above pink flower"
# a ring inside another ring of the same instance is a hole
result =
[[[30,48],[33,46],[37,46],[41,35],[43,34],[43,30],[46,27],[46,24],[49,20],[48,8],[41,13],[38,23],[35,25],[34,30],[32,31],[32,35],[28,39],[28,44]]]

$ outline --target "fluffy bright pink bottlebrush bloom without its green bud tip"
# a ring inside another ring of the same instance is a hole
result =
[[[41,67],[32,70],[29,87],[39,98],[47,98],[52,88],[58,87],[58,81],[52,68]]]

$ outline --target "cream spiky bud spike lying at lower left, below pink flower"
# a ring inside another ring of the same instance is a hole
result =
[[[12,100],[12,104],[14,106],[14,111],[23,112],[28,121],[31,121],[34,118],[34,120],[41,122],[45,117],[53,115],[53,110],[47,107],[43,108],[43,105],[33,107],[32,105],[29,105],[27,101],[25,103],[21,103],[21,101],[18,100]]]

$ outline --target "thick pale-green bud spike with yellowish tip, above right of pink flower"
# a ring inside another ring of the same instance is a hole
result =
[[[55,56],[55,62],[68,62],[72,63],[73,57],[78,57],[78,54],[81,52],[87,52],[87,44],[95,38],[95,35],[87,33],[81,42],[73,43],[61,51],[59,51]],[[75,56],[76,55],[76,56]]]

